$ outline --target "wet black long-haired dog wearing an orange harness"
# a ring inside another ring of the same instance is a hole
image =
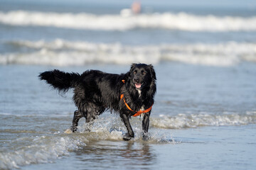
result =
[[[74,88],[73,101],[78,111],[75,111],[73,125],[70,127],[73,132],[77,130],[80,118],[85,117],[86,123],[90,123],[97,115],[110,109],[111,112],[119,113],[127,128],[124,140],[134,137],[129,118],[144,113],[142,137],[143,140],[148,139],[149,115],[156,93],[156,73],[151,64],[132,64],[126,74],[87,70],[80,75],[54,69],[41,73],[39,78],[63,93]]]

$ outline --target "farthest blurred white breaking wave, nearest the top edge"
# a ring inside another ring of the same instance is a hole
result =
[[[90,30],[160,28],[186,31],[255,31],[256,17],[196,16],[189,13],[151,13],[138,16],[94,15],[39,11],[0,12],[0,23],[12,26],[50,26]],[[111,24],[110,24],[111,23]]]

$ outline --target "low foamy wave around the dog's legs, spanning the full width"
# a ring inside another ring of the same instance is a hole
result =
[[[153,144],[178,144],[170,132],[161,130],[198,128],[201,126],[223,125],[249,125],[256,123],[256,112],[245,114],[227,113],[222,115],[210,114],[178,114],[174,116],[160,115],[159,118],[150,118],[149,143]],[[132,118],[132,127],[135,137],[133,141],[142,142],[142,119]],[[0,150],[0,169],[18,169],[29,164],[54,162],[55,159],[68,156],[70,152],[81,149],[92,141],[122,141],[126,128],[117,116],[100,117],[95,120],[91,132],[85,132],[86,125],[78,126],[78,133],[64,134],[63,132],[44,133],[41,136],[19,137],[14,142],[15,149],[2,147]],[[8,132],[8,131],[4,131]],[[12,130],[12,133],[19,133]],[[31,131],[21,130],[21,133],[31,134]]]

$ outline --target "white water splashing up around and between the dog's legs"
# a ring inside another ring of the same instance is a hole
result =
[[[134,130],[134,138],[132,141],[142,142],[142,119],[132,118],[130,120],[132,129]],[[85,133],[86,139],[91,140],[110,140],[110,141],[122,141],[123,135],[127,132],[127,129],[122,123],[119,115],[107,115],[107,117],[100,116],[92,125],[90,132],[86,132],[86,124],[82,127],[78,127],[78,132]],[[149,143],[165,144],[176,143],[169,132],[164,130],[149,130]]]

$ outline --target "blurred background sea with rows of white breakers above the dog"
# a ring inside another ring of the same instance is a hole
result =
[[[256,1],[1,1],[0,64],[256,61]]]

